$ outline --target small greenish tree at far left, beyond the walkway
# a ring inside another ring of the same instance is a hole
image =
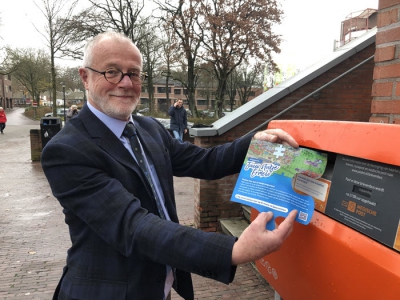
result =
[[[50,57],[41,49],[7,48],[7,68],[39,103],[40,93],[49,89]]]

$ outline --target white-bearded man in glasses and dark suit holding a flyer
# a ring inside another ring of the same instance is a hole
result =
[[[239,239],[178,224],[173,176],[218,179],[239,172],[251,136],[203,149],[180,143],[153,118],[132,116],[144,79],[142,56],[121,34],[95,37],[83,63],[87,105],[50,140],[41,159],[72,242],[56,299],[162,300],[171,286],[193,299],[190,273],[228,284],[237,265],[280,247],[296,211],[274,231],[265,229],[272,214],[262,213]],[[146,158],[133,153],[140,147],[131,148],[136,136],[124,136],[131,122]],[[298,147],[279,129],[255,138]],[[150,172],[139,167],[143,160]]]

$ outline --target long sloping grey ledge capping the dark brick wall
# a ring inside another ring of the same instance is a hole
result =
[[[332,67],[375,43],[376,32],[377,28],[374,27],[357,39],[337,48],[335,52],[326,58],[283,81],[279,86],[269,89],[250,102],[238,107],[225,117],[215,121],[212,128],[190,128],[189,134],[199,137],[224,134],[228,130],[254,116],[256,113],[325,73]]]

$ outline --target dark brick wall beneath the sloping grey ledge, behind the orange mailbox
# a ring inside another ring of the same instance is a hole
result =
[[[365,48],[225,134],[216,137],[196,137],[195,144],[208,148],[246,134],[296,101],[371,57],[374,52],[375,45]],[[359,69],[322,90],[317,99],[311,97],[303,101],[279,119],[368,122],[371,116],[373,70],[374,61],[371,59]],[[237,175],[213,181],[195,180],[195,226],[197,228],[205,231],[219,231],[219,218],[242,215],[241,206],[230,201],[236,179]]]

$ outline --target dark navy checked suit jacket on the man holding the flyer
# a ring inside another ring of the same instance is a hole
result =
[[[237,173],[251,137],[203,149],[180,144],[152,118],[134,119],[172,222],[159,218],[135,160],[85,105],[41,158],[72,242],[59,299],[163,299],[166,265],[176,268],[174,288],[185,299],[193,299],[189,273],[233,280],[235,238],[178,225],[173,176]]]

